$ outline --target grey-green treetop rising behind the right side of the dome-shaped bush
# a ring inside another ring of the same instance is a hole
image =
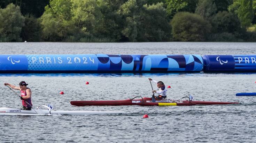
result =
[[[217,7],[213,0],[199,0],[195,10],[195,14],[200,15],[204,19],[209,19],[216,12]]]

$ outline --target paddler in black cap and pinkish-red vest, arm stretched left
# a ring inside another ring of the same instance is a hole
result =
[[[32,108],[32,101],[31,101],[31,95],[32,92],[30,90],[30,88],[27,88],[27,85],[25,81],[21,81],[19,83],[19,87],[11,85],[10,83],[4,83],[5,86],[10,86],[13,89],[16,90],[20,90],[21,91],[21,100],[22,100],[22,110],[31,110]],[[26,100],[26,102],[28,102],[29,104],[27,104],[24,100]]]

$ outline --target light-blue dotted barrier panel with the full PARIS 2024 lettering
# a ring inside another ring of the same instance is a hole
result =
[[[96,55],[26,55],[28,71],[96,71]]]

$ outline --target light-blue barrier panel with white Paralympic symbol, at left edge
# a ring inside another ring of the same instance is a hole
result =
[[[25,55],[0,55],[0,71],[27,71],[28,59]]]

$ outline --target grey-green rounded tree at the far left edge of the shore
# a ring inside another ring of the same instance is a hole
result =
[[[20,7],[11,3],[5,9],[0,9],[0,21],[0,42],[20,42],[21,28],[24,26]]]

